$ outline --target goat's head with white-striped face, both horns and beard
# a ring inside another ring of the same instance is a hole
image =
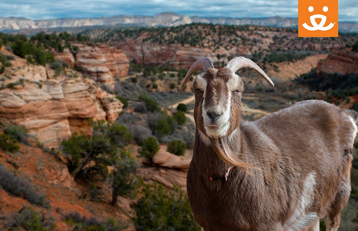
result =
[[[184,89],[189,78],[199,69],[193,87],[195,89],[194,118],[202,139],[210,140],[216,153],[225,162],[245,169],[246,164],[231,155],[228,140],[241,122],[241,96],[243,81],[235,74],[241,68],[250,68],[259,73],[270,85],[274,83],[253,61],[244,57],[232,59],[226,67],[215,69],[209,58],[201,58],[189,69],[180,86]]]

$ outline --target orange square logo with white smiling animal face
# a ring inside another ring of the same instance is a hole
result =
[[[338,37],[338,0],[298,0],[298,37]]]

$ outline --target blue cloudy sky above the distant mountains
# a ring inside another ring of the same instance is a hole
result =
[[[33,20],[156,15],[297,17],[297,0],[0,0],[0,17]],[[358,22],[358,0],[339,0],[339,21]]]

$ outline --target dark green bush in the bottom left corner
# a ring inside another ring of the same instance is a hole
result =
[[[9,230],[53,231],[56,228],[53,217],[48,216],[44,211],[36,212],[31,207],[23,207],[6,220],[5,227]]]

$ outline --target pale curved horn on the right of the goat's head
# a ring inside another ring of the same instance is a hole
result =
[[[268,75],[262,70],[254,61],[245,57],[235,57],[226,65],[226,68],[230,69],[233,73],[237,72],[241,68],[250,68],[259,73],[271,86],[275,86],[274,82]]]

